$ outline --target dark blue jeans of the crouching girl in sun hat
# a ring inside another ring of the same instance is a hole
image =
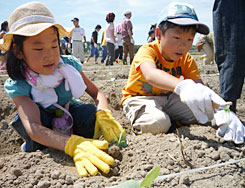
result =
[[[52,129],[52,119],[55,117],[53,113],[48,113],[43,108],[40,109],[41,123],[43,126]],[[97,109],[92,104],[71,104],[69,112],[73,117],[73,134],[83,136],[85,138],[93,138],[94,127],[96,121]],[[23,148],[25,152],[43,149],[45,146],[33,141],[27,134],[18,113],[15,116],[11,126],[25,140],[26,144]]]

